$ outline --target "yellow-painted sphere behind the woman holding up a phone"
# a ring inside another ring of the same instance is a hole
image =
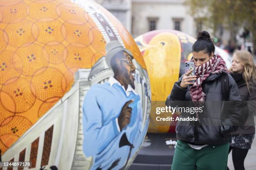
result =
[[[154,30],[135,38],[146,63],[152,91],[152,107],[148,132],[166,133],[175,132],[175,121],[159,122],[156,120],[155,108],[165,107],[164,102],[170,94],[174,82],[184,74],[184,66],[192,57],[192,45],[196,39],[177,30]],[[216,47],[219,53],[230,64],[230,56],[224,50]],[[173,116],[170,113],[161,113],[161,117]]]

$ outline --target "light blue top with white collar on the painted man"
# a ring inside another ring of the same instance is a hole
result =
[[[132,108],[131,120],[127,127],[120,131],[118,116],[126,102]],[[142,109],[140,96],[128,85],[127,90],[116,80],[110,77],[104,84],[92,85],[84,97],[83,103],[83,152],[93,158],[90,170],[97,168],[108,170],[116,161],[113,170],[119,170],[125,165],[130,145],[120,146],[120,139],[125,133],[128,141],[134,146],[131,157],[138,150],[146,135],[142,126]],[[145,127],[148,126],[148,120]]]

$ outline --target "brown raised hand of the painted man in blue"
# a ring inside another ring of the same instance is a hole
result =
[[[128,107],[130,103],[132,103],[133,100],[129,100],[123,105],[123,108],[121,110],[121,113],[118,117],[118,125],[120,127],[120,131],[122,131],[123,128],[125,128],[131,119],[131,111],[133,110],[131,107]]]

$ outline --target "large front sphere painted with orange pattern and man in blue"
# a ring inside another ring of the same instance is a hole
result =
[[[2,161],[125,170],[146,135],[150,101],[138,46],[97,3],[0,2]]]

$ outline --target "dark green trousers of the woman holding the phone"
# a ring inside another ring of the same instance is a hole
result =
[[[184,141],[177,141],[172,170],[226,170],[229,143],[206,146],[200,150],[191,148]]]

